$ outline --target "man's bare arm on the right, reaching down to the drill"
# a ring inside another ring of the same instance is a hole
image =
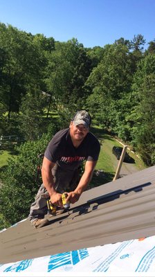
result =
[[[69,196],[67,197],[66,201],[69,200],[69,202],[72,204],[78,201],[80,195],[82,195],[83,191],[86,189],[91,181],[91,178],[93,177],[93,170],[95,169],[96,163],[97,161],[86,161],[84,173],[80,179],[80,182],[74,191],[68,193]]]

